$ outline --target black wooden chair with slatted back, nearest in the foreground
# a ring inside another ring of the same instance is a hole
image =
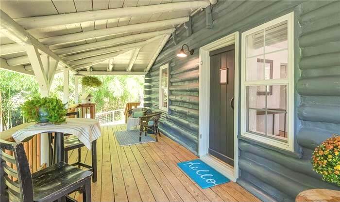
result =
[[[12,151],[13,155],[4,150]],[[84,202],[91,202],[90,171],[60,162],[31,174],[22,143],[5,140],[0,140],[0,160],[1,202],[53,202],[77,190],[83,191]],[[14,164],[16,169],[7,163]]]

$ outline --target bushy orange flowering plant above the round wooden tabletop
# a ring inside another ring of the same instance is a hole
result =
[[[323,180],[340,186],[340,136],[324,140],[315,148],[311,159],[313,170],[323,175]]]

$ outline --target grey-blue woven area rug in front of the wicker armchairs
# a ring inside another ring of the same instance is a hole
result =
[[[133,144],[142,144],[146,142],[154,142],[156,141],[149,134],[146,136],[142,133],[142,140],[139,141],[139,130],[126,130],[126,131],[117,131],[115,132],[116,139],[120,146],[133,145]]]

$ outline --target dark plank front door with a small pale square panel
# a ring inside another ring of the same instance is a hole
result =
[[[234,45],[210,52],[209,154],[234,166]]]

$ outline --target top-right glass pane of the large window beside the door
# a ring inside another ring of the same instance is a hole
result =
[[[288,47],[287,21],[265,29],[266,53]]]

